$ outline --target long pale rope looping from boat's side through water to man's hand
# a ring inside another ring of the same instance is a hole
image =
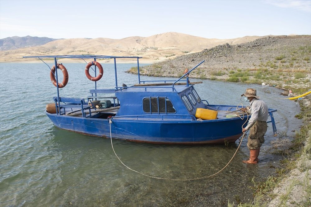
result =
[[[248,121],[248,116],[247,116],[247,119],[246,119],[246,121],[244,122],[244,124],[245,124],[247,121]],[[114,151],[114,146],[113,146],[113,144],[112,144],[112,135],[111,135],[111,123],[112,123],[112,121],[111,121],[111,119],[110,119],[110,120],[109,120],[109,126],[110,126],[110,141],[111,141],[112,150]],[[242,125],[242,129],[243,129],[244,124]],[[246,132],[247,132],[247,131],[246,131]],[[220,173],[223,169],[225,169],[225,168],[229,165],[229,163],[231,162],[231,160],[234,158],[235,154],[238,152],[238,150],[239,150],[239,148],[240,148],[240,146],[241,146],[241,144],[242,144],[242,140],[243,140],[244,136],[246,135],[246,132],[243,133],[243,136],[242,136],[242,138],[241,138],[241,140],[240,140],[240,143],[239,143],[238,148],[235,150],[235,153],[233,154],[233,156],[232,156],[232,158],[230,159],[230,161],[225,165],[225,167],[223,167],[223,168],[222,168],[221,170],[219,170],[217,173],[214,173],[214,174],[209,175],[209,176],[204,176],[204,177],[197,177],[197,178],[190,178],[190,179],[171,179],[171,178],[155,177],[155,176],[151,176],[151,175],[146,175],[146,174],[144,174],[144,173],[141,173],[141,172],[138,172],[138,171],[136,171],[136,170],[133,170],[132,168],[129,168],[127,165],[125,165],[125,164],[121,161],[121,159],[118,157],[118,155],[117,155],[117,153],[116,153],[115,151],[114,151],[114,154],[116,155],[116,157],[118,158],[118,160],[119,160],[126,168],[128,168],[128,169],[130,169],[130,170],[132,170],[132,171],[134,171],[134,172],[136,172],[136,173],[142,174],[142,175],[144,175],[144,176],[146,176],[146,177],[151,177],[151,178],[156,178],[156,179],[162,179],[162,180],[173,180],[173,181],[199,180],[199,179],[203,179],[203,178],[207,178],[207,177],[212,177],[212,176],[214,176],[214,175]]]

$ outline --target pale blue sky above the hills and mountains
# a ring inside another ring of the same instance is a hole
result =
[[[311,34],[311,0],[0,0],[0,39],[122,39],[165,32],[209,39]]]

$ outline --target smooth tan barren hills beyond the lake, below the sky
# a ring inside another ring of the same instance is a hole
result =
[[[200,52],[217,45],[246,43],[260,36],[246,36],[236,39],[207,39],[188,34],[167,32],[150,37],[127,37],[123,39],[59,39],[44,45],[0,51],[0,62],[34,61],[23,56],[35,55],[112,55],[140,56],[140,62],[154,63],[174,59],[184,54]],[[66,62],[68,60],[64,60]],[[77,60],[72,60],[77,61]],[[108,61],[108,60],[107,60]]]

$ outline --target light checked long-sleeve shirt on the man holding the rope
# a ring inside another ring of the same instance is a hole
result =
[[[264,122],[268,120],[268,106],[264,101],[254,98],[249,104],[251,106],[251,117],[245,127],[246,130],[252,127],[257,120]]]

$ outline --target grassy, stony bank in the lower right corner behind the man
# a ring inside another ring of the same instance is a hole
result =
[[[265,196],[268,207],[311,206],[311,94],[299,102],[301,117],[297,117],[304,119],[304,126],[296,134],[294,141],[301,139],[300,146],[288,157],[291,161],[284,168],[288,173],[281,177],[271,192],[268,192],[275,197]]]

